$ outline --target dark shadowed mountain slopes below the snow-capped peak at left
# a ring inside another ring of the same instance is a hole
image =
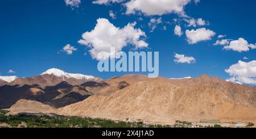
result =
[[[5,85],[0,87],[0,108],[9,108],[19,99],[36,100],[57,108],[79,102],[91,95],[94,94],[65,81],[44,89],[39,85]]]

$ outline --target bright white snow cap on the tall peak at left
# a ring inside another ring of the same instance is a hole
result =
[[[63,70],[60,69],[48,69],[47,71],[45,71],[44,73],[40,74],[40,75],[44,75],[44,74],[49,74],[49,75],[55,75],[56,77],[62,77],[62,78],[76,78],[76,79],[86,79],[86,80],[92,80],[92,79],[97,79],[96,77],[92,76],[92,75],[84,75],[84,74],[73,74],[73,73],[66,73]]]

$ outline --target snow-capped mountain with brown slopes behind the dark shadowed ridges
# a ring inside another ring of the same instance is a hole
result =
[[[66,81],[70,85],[80,85],[88,81],[101,81],[101,79],[91,75],[72,74],[59,69],[48,69],[44,73],[34,77],[17,78],[13,82],[10,82],[9,85],[23,86],[36,84],[40,87],[46,87],[55,86],[62,81]]]

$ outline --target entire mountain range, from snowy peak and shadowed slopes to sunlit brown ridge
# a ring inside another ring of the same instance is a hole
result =
[[[43,112],[152,123],[253,121],[256,87],[207,74],[180,79],[130,74],[103,80],[50,69],[1,86],[0,107],[9,108],[10,114]]]

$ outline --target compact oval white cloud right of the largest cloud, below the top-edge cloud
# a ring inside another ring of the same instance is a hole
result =
[[[207,30],[206,28],[199,28],[197,30],[186,30],[187,41],[189,44],[196,44],[200,41],[211,40],[215,32]]]

